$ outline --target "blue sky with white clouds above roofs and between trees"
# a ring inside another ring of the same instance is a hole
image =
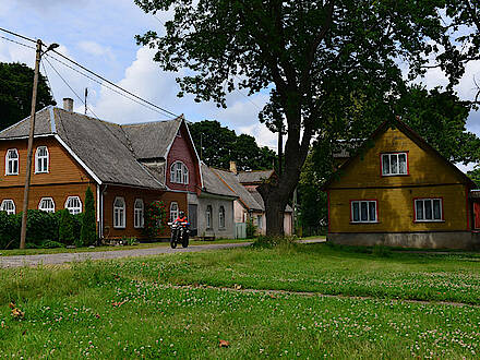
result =
[[[190,121],[218,120],[237,133],[253,135],[260,145],[276,149],[275,134],[260,124],[257,118],[268,98],[267,93],[247,96],[245,91],[233,92],[227,97],[226,109],[213,103],[197,104],[191,95],[177,97],[179,86],[176,77],[181,76],[182,72],[175,74],[161,71],[152,60],[154,50],[136,45],[134,39],[135,35],[149,29],[161,34],[163,22],[167,16],[146,14],[133,0],[0,0],[0,27],[31,38],[40,38],[45,44],[57,43],[60,45],[57,49],[59,52],[173,113],[183,113]],[[117,123],[169,119],[125,99],[48,57],[47,60],[49,63],[43,61],[40,71],[47,74],[59,106],[63,97],[71,97],[74,99],[75,111],[83,112],[84,106],[76,95],[83,97],[87,87],[88,107],[100,119]],[[0,38],[0,61],[19,61],[33,67],[35,51]],[[456,88],[461,98],[471,99],[475,96],[475,77],[480,79],[479,61],[468,65]],[[445,85],[446,79],[440,70],[432,70],[421,82],[432,88]],[[467,129],[480,136],[480,111],[470,115]]]

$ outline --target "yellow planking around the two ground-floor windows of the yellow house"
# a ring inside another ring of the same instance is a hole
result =
[[[404,232],[466,230],[466,187],[329,190],[329,232]],[[416,223],[413,200],[443,197],[442,223]],[[376,199],[377,224],[350,224],[350,200]]]

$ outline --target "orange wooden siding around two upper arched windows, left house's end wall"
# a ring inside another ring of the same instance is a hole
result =
[[[47,146],[48,148],[48,173],[35,173],[35,151],[38,146]],[[5,176],[5,155],[10,148],[16,148],[19,152],[19,175]],[[27,140],[0,141],[0,189],[7,187],[23,187],[25,184],[26,153]],[[32,185],[72,182],[88,183],[92,182],[92,179],[55,137],[35,139],[32,159]]]

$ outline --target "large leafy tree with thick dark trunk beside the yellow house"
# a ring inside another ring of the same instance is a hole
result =
[[[442,40],[442,0],[135,0],[169,11],[166,33],[137,41],[157,48],[164,70],[190,69],[181,92],[226,106],[235,88],[271,92],[260,120],[287,135],[277,182],[259,188],[267,235],[283,232],[281,212],[297,187],[311,140],[329,133],[357,94],[389,103]],[[180,94],[181,95],[181,94]],[[393,117],[393,109],[386,112]],[[341,123],[341,122],[340,122]]]

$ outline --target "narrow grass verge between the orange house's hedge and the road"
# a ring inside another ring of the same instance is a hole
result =
[[[190,241],[190,245],[202,245],[205,243],[237,243],[237,242],[248,242],[248,240],[242,240],[242,239],[218,239],[218,240],[214,240],[214,241],[192,240],[192,241]],[[124,247],[95,247],[95,248],[84,247],[84,248],[75,248],[75,249],[65,249],[65,248],[24,249],[24,250],[13,249],[13,250],[0,250],[0,256],[118,251],[118,250],[160,248],[160,247],[169,247],[169,243],[168,242],[142,242],[142,243],[139,243],[135,245],[124,245]]]

